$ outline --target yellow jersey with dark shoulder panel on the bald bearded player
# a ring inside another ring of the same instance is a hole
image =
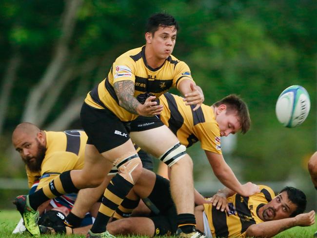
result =
[[[87,141],[84,131],[44,131],[44,133],[46,134],[46,153],[41,170],[31,172],[26,167],[30,188],[38,179],[40,183],[37,189],[40,189],[64,171],[83,168]]]

